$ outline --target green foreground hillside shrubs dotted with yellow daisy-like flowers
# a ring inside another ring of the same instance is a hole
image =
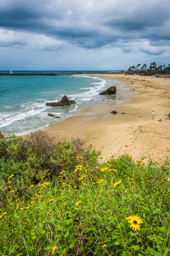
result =
[[[44,131],[0,140],[0,255],[170,255],[170,161]]]

